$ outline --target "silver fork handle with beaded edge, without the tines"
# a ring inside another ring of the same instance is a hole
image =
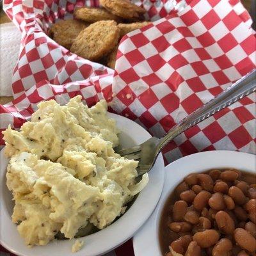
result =
[[[160,140],[158,144],[158,150],[160,151],[168,142],[177,137],[180,133],[186,131],[190,127],[202,122],[209,116],[214,115],[223,108],[227,108],[237,100],[249,95],[256,90],[255,81],[256,69],[253,69],[246,76],[237,80],[236,83],[232,84],[225,91],[220,93],[214,99],[207,102],[204,106],[196,109],[195,112],[186,116],[179,124],[175,125],[166,133]]]

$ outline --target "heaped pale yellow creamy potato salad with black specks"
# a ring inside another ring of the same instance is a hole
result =
[[[4,131],[12,220],[26,244],[47,244],[58,232],[71,239],[88,223],[102,229],[125,212],[148,176],[135,182],[138,162],[114,152],[117,134],[106,101],[88,108],[81,96],[65,106],[41,102],[20,131]]]

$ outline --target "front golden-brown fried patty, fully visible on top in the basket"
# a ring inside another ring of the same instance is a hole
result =
[[[70,51],[88,60],[100,60],[118,43],[119,31],[114,20],[97,21],[79,33]]]

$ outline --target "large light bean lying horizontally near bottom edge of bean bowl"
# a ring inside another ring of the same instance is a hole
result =
[[[196,243],[201,248],[208,248],[213,244],[216,244],[219,238],[220,238],[220,234],[214,229],[207,229],[202,232],[197,232],[193,236],[193,240],[196,241]]]

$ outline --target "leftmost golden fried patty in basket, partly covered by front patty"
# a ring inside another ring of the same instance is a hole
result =
[[[79,33],[88,26],[79,20],[61,20],[52,25],[49,35],[63,47],[70,49]]]

